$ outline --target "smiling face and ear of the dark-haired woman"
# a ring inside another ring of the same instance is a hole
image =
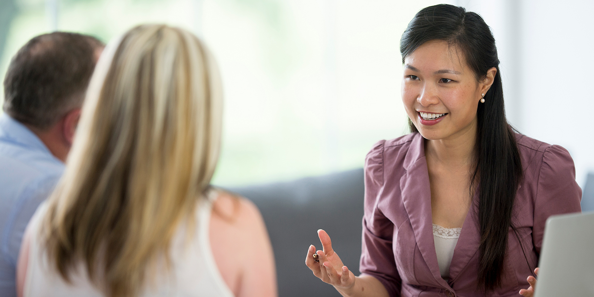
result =
[[[476,108],[497,69],[477,81],[461,50],[441,40],[419,46],[405,58],[402,101],[423,137],[442,140],[476,131]],[[474,134],[472,134],[474,135]]]

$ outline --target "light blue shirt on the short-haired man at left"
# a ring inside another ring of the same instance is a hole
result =
[[[37,135],[6,113],[0,115],[0,296],[16,296],[23,232],[63,171],[64,163]]]

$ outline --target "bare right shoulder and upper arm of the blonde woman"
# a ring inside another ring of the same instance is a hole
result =
[[[260,211],[246,198],[219,191],[210,219],[210,245],[235,296],[277,296],[274,253]]]

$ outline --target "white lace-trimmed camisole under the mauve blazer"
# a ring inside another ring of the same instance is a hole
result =
[[[454,248],[458,243],[462,228],[444,228],[433,224],[433,241],[435,242],[435,253],[437,264],[440,266],[440,274],[444,280],[450,279],[451,258],[454,257]]]

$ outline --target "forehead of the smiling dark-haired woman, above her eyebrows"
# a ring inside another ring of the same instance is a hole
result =
[[[423,43],[405,58],[405,68],[419,72],[456,72],[469,71],[462,50],[444,40],[432,40]]]

